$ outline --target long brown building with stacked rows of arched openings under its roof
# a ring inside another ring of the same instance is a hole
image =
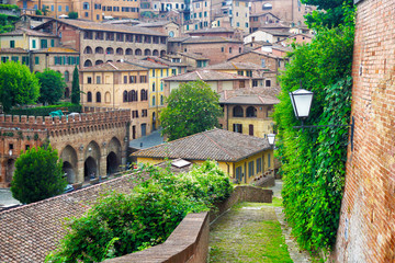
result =
[[[81,67],[167,53],[167,35],[144,27],[52,20],[36,30],[59,36],[61,45],[79,52]]]

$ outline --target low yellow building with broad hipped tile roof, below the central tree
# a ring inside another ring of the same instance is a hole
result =
[[[137,157],[138,163],[150,164],[178,158],[200,164],[211,159],[241,183],[251,183],[274,169],[273,149],[268,139],[217,128],[139,150],[132,156]]]

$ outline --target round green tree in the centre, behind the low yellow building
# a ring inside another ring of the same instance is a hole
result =
[[[218,100],[219,95],[201,80],[180,84],[160,113],[162,134],[174,140],[218,126],[223,115]]]

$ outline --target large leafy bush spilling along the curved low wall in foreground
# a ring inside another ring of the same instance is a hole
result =
[[[163,242],[189,213],[208,210],[233,191],[228,176],[213,161],[189,173],[145,167],[151,176],[132,194],[111,193],[81,218],[47,262],[99,262]]]

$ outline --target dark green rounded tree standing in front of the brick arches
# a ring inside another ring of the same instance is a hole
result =
[[[61,194],[67,185],[63,163],[50,145],[23,152],[15,162],[11,182],[12,196],[24,204]]]

